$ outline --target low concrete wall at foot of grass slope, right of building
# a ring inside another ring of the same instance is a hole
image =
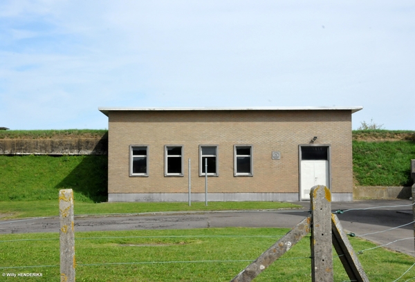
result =
[[[353,199],[409,199],[411,187],[353,187]]]

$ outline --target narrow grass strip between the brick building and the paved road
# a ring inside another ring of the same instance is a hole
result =
[[[80,214],[139,214],[144,212],[191,212],[241,209],[290,209],[300,205],[280,202],[194,202],[188,203],[83,203],[75,198],[74,212]],[[59,216],[59,201],[31,200],[27,202],[0,202],[0,214],[4,218]]]

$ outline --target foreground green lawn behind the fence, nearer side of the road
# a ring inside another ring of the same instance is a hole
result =
[[[236,227],[77,232],[77,281],[230,281],[286,232],[288,229]],[[33,239],[42,241],[28,241]],[[350,241],[356,252],[375,247],[359,238]],[[349,281],[334,251],[333,255],[334,281]],[[305,237],[255,281],[311,281],[309,256],[310,238]],[[370,281],[388,282],[415,262],[412,256],[382,248],[367,250],[358,259]],[[42,281],[59,281],[59,234],[0,235],[0,270],[42,273]],[[414,276],[415,269],[400,281]]]

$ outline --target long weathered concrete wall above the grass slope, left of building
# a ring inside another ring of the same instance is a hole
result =
[[[0,155],[107,155],[108,138],[0,140]]]

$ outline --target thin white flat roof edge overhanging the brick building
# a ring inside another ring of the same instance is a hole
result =
[[[99,107],[98,110],[108,116],[109,111],[351,111],[356,113],[362,106],[265,106],[265,107],[231,107],[231,108],[131,108]]]

